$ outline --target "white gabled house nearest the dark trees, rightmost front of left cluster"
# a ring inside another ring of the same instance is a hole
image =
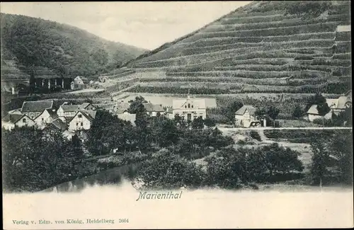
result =
[[[69,131],[89,130],[93,119],[96,117],[96,110],[80,110],[69,120]]]

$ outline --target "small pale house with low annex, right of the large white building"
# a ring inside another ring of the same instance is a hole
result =
[[[253,105],[244,105],[235,112],[235,125],[241,127],[250,127],[251,122],[257,122],[261,126],[261,121],[257,120],[256,108]],[[265,127],[265,120],[263,120]]]

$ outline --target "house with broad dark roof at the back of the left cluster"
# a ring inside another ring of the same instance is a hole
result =
[[[21,113],[30,117],[30,119],[35,119],[38,117],[45,109],[54,110],[53,100],[34,100],[23,102]]]

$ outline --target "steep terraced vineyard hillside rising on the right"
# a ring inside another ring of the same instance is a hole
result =
[[[253,1],[128,62],[130,91],[345,93],[350,24],[350,1]]]

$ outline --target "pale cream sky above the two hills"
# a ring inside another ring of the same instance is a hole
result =
[[[153,50],[251,1],[1,2],[1,13],[74,25],[115,42]]]

